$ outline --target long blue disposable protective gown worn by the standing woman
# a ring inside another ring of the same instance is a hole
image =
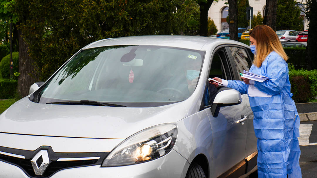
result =
[[[249,96],[257,138],[258,177],[286,178],[288,175],[289,178],[301,178],[300,119],[291,99],[288,65],[280,55],[271,52],[261,67],[252,65],[249,71],[268,77],[262,83],[255,81],[255,87],[273,95]],[[241,81],[229,80],[227,87],[247,94],[249,86]]]

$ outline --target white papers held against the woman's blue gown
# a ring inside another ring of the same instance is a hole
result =
[[[244,78],[248,78],[251,80],[255,80],[258,82],[263,82],[265,80],[268,80],[268,77],[262,76],[262,75],[258,75],[258,74],[254,74],[248,71],[243,71],[243,76]],[[258,97],[271,97],[272,95],[268,95],[262,91],[260,91],[259,89],[257,89],[254,85],[249,85],[249,89],[248,89],[248,95],[249,96],[258,96]]]

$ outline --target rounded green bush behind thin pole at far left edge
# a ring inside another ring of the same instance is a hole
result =
[[[19,72],[19,53],[12,53],[12,61],[13,61],[13,72],[12,79],[17,80],[17,76],[13,75],[15,72]],[[10,79],[10,54],[6,55],[2,58],[0,62],[0,74],[3,79]]]

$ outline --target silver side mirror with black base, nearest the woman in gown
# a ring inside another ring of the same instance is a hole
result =
[[[220,91],[211,106],[211,113],[214,117],[217,117],[219,114],[220,107],[223,106],[232,106],[240,104],[242,102],[241,94],[235,89],[226,89]]]

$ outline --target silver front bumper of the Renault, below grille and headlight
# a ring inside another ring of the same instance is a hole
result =
[[[189,163],[175,150],[167,155],[145,163],[117,166],[100,167],[86,166],[63,169],[50,178],[64,177],[94,177],[94,178],[150,178],[150,177],[185,177]],[[5,178],[29,178],[19,167],[0,161],[0,177]]]

